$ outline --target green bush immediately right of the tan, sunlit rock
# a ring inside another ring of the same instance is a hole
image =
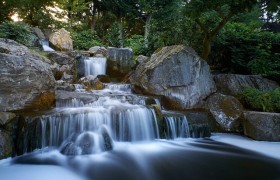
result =
[[[88,50],[93,46],[101,46],[102,43],[95,31],[90,29],[73,32],[73,46],[75,49]]]

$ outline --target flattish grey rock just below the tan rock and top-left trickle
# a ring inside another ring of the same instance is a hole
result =
[[[74,62],[74,58],[68,56],[63,52],[49,52],[47,56],[50,60],[59,65],[69,65],[73,64]]]

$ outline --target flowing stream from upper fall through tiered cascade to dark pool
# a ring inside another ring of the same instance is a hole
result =
[[[105,74],[106,59],[86,59],[85,71]],[[160,99],[133,94],[130,84],[75,87],[57,91],[56,108],[29,119],[36,143],[24,141],[24,155],[0,161],[1,178],[280,179],[279,159],[194,137],[184,114],[158,115]]]

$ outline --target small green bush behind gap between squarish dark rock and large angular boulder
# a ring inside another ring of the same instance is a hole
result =
[[[133,49],[134,55],[140,55],[144,51],[144,37],[142,35],[132,35],[126,39],[125,46]]]

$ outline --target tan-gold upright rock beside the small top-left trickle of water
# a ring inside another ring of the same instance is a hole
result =
[[[60,51],[72,51],[73,41],[71,35],[64,28],[54,32],[49,37],[50,43]]]

